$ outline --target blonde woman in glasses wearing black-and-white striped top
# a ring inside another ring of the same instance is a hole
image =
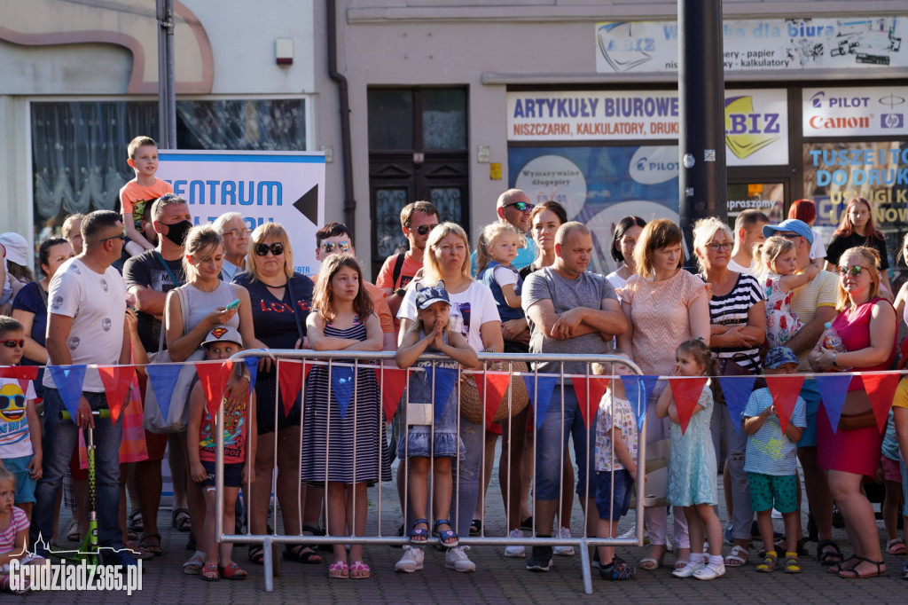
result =
[[[697,221],[694,226],[694,252],[703,273],[700,277],[709,284],[710,347],[714,356],[735,360],[751,372],[757,372],[760,362],[759,345],[766,337],[765,296],[752,275],[728,269],[734,237],[728,225],[715,217]],[[725,504],[731,519],[732,551],[725,565],[739,567],[747,562],[751,524],[754,513],[750,508],[744,471],[747,433],[732,425],[731,415],[724,405],[713,408],[713,444],[719,451],[719,430],[725,425],[728,457],[723,471]]]

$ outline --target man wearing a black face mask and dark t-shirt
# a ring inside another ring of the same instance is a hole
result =
[[[186,283],[183,273],[183,243],[192,228],[192,214],[186,200],[179,195],[168,193],[154,202],[152,224],[158,233],[158,244],[152,250],[133,256],[123,266],[123,279],[129,292],[135,296],[135,308],[139,316],[139,337],[147,352],[159,350],[161,320],[167,293]],[[163,347],[166,348],[166,343]],[[149,385],[147,388],[151,388]],[[181,455],[185,449],[179,435],[173,435],[171,455]],[[157,511],[161,502],[162,476],[161,461],[167,435],[145,431],[148,460],[136,462],[134,476],[135,491],[142,511],[143,538],[140,549],[150,553],[161,551],[161,536],[157,529]],[[188,503],[185,488],[185,467],[182,461],[171,461],[173,477],[174,526],[183,530],[189,527]],[[133,511],[131,524],[138,517]],[[177,520],[181,521],[177,521]],[[183,521],[185,520],[185,521]]]

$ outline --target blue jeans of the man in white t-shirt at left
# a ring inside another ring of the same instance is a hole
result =
[[[83,392],[92,410],[107,408],[103,392]],[[35,511],[32,516],[31,542],[39,535],[50,543],[54,532],[54,503],[64,473],[69,469],[78,442],[79,428],[71,420],[61,420],[59,412],[65,410],[60,392],[44,389],[44,476],[35,487]],[[94,477],[95,500],[98,513],[98,542],[102,546],[123,548],[120,531],[120,441],[123,423],[113,424],[110,419],[94,419]]]

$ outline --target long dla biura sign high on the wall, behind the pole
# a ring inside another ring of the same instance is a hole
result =
[[[725,72],[908,67],[908,19],[750,19],[722,27]],[[677,71],[675,21],[596,24],[596,71]]]

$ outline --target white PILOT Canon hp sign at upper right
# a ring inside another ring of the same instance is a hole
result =
[[[805,88],[805,137],[908,134],[908,87]]]

